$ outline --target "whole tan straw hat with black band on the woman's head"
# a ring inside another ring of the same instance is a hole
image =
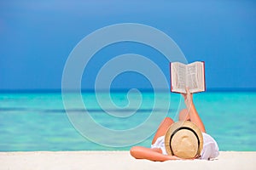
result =
[[[203,147],[201,130],[193,122],[175,122],[166,133],[165,145],[168,155],[184,159],[200,156]]]

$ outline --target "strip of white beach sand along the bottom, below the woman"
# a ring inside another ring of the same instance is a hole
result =
[[[256,152],[221,151],[214,161],[136,160],[129,151],[0,152],[0,169],[256,169]]]

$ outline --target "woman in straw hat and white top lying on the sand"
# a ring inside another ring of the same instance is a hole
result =
[[[179,122],[174,123],[170,117],[160,123],[154,135],[151,148],[133,146],[131,156],[151,161],[179,159],[206,159],[218,156],[218,144],[206,133],[195,105],[193,95],[186,89],[183,98],[187,109],[180,111]]]

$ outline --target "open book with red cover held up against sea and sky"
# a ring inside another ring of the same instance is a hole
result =
[[[180,62],[170,63],[171,91],[186,94],[206,91],[205,62],[196,61],[189,65]]]

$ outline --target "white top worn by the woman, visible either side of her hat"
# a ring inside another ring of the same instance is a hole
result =
[[[207,133],[202,133],[203,136],[203,149],[201,150],[200,159],[209,160],[218,156],[218,144],[217,142]],[[151,148],[160,148],[164,155],[167,155],[165,146],[165,136],[160,136],[156,139],[154,144],[151,144]]]

